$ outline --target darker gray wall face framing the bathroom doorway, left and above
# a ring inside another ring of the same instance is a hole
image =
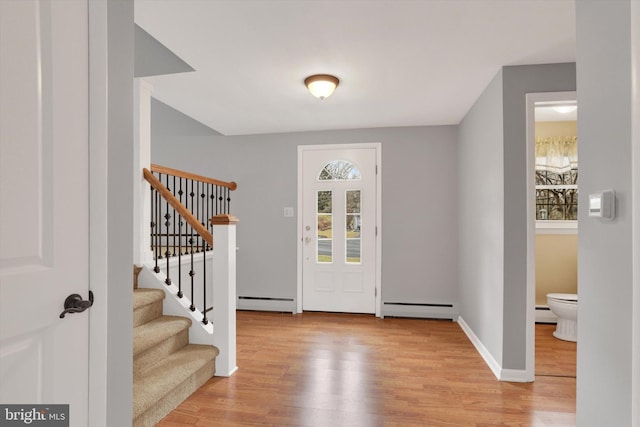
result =
[[[503,369],[525,370],[527,351],[527,93],[576,90],[575,63],[503,68]],[[580,165],[582,168],[582,164]],[[582,174],[582,172],[581,172]],[[582,184],[582,183],[581,183]]]

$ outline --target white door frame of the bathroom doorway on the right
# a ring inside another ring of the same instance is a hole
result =
[[[541,101],[577,99],[575,91],[528,93],[527,99],[527,313],[525,381],[535,380],[536,368],[536,153],[535,107]],[[578,159],[578,163],[580,159]],[[579,166],[578,166],[579,168]],[[579,179],[579,178],[578,178]]]

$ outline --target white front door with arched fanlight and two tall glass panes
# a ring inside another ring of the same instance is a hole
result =
[[[377,147],[301,147],[302,309],[376,312]]]

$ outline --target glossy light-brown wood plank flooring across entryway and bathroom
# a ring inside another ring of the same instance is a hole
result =
[[[505,383],[450,321],[311,312],[237,319],[239,370],[212,378],[160,427],[575,425],[575,344],[571,355],[567,343],[548,341],[553,326],[539,325],[542,375]]]

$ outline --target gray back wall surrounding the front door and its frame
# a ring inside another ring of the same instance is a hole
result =
[[[381,142],[383,301],[457,303],[456,127],[226,137],[158,101],[151,121],[152,162],[238,183],[239,296],[295,301],[297,146]]]

